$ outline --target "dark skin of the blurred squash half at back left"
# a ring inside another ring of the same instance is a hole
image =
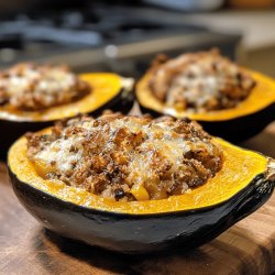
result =
[[[134,94],[121,88],[116,97],[100,106],[98,109],[89,112],[90,116],[99,116],[103,110],[109,109],[128,113],[134,101]],[[0,160],[6,160],[8,148],[10,145],[26,132],[36,132],[46,127],[53,125],[55,120],[52,121],[14,121],[0,119]]]

